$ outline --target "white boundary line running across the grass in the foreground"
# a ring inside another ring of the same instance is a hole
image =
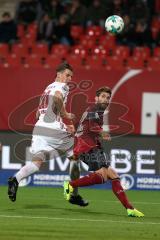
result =
[[[59,221],[84,221],[84,222],[106,222],[106,223],[124,223],[124,224],[149,224],[160,225],[160,222],[130,222],[130,221],[113,221],[106,219],[85,219],[85,218],[56,218],[56,217],[40,217],[40,216],[20,216],[20,215],[0,215],[0,218],[23,218],[23,219],[43,219],[43,220],[59,220]]]

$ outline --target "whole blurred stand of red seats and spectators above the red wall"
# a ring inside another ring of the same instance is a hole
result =
[[[12,6],[12,7],[9,7]],[[110,15],[124,19],[117,36]],[[159,70],[160,0],[0,0],[0,66]]]

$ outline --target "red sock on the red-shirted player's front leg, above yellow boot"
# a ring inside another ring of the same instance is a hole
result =
[[[123,206],[125,208],[130,208],[130,209],[134,208],[128,201],[128,198],[121,186],[119,179],[112,180],[112,191],[114,192],[114,194],[117,196],[117,198],[119,199],[119,201],[123,204]]]

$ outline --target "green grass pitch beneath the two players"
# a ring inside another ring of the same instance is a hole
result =
[[[1,240],[144,240],[160,239],[160,192],[128,191],[144,218],[127,217],[110,190],[80,189],[85,208],[63,198],[62,188],[19,188],[17,201],[0,187]]]

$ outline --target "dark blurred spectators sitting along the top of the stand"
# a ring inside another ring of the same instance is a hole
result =
[[[15,5],[14,12],[2,13],[1,43],[21,42],[28,33],[34,35],[28,36],[31,41],[49,46],[74,45],[77,39],[72,26],[85,30],[96,25],[104,30],[105,19],[116,14],[125,22],[123,33],[116,39],[118,44],[160,45],[160,0],[20,0]]]

